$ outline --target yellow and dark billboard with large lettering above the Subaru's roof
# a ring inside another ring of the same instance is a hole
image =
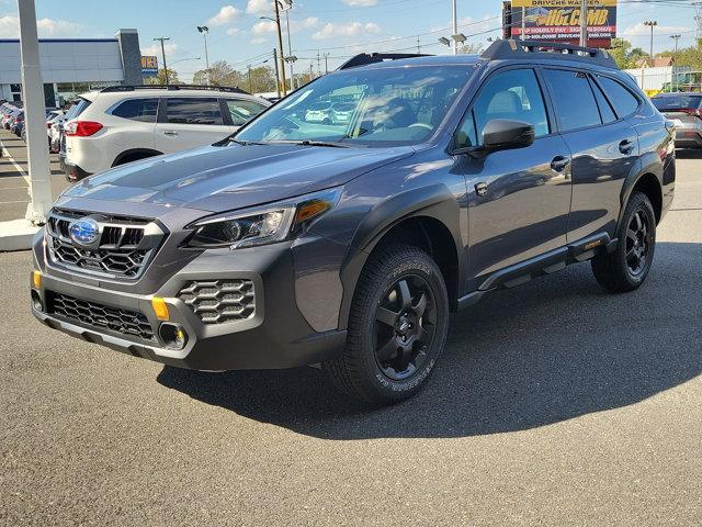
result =
[[[505,13],[505,34],[522,40],[578,41],[580,3],[580,0],[512,0],[506,5],[506,11],[510,9]],[[590,44],[609,47],[616,36],[616,0],[589,0],[587,16]]]

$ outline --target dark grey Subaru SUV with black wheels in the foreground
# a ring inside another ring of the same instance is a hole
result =
[[[348,124],[291,117],[340,91],[360,93]],[[602,51],[360,55],[229,141],[69,188],[32,311],[174,367],[320,365],[392,403],[426,385],[452,311],[582,261],[641,287],[675,180],[672,126]]]

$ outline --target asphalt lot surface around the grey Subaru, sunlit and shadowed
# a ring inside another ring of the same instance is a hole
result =
[[[30,253],[0,255],[0,525],[701,525],[702,156],[678,171],[645,287],[580,265],[492,295],[380,411],[312,368],[189,372],[52,332]]]

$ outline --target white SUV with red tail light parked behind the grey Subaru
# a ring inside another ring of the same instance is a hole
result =
[[[271,103],[237,88],[113,86],[80,97],[64,124],[69,181],[223,139]]]

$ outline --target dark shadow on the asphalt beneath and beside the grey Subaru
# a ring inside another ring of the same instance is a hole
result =
[[[702,372],[702,245],[658,244],[648,281],[610,295],[580,265],[452,319],[427,389],[396,406],[349,402],[313,368],[201,373],[162,385],[328,439],[514,431],[637,403]]]

